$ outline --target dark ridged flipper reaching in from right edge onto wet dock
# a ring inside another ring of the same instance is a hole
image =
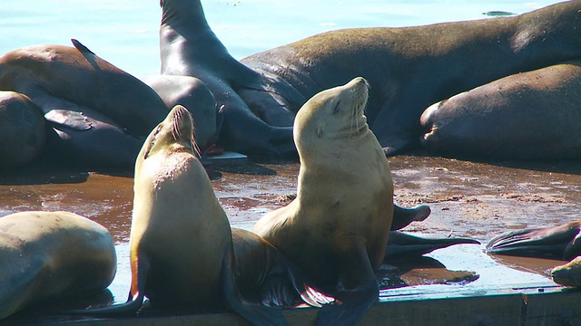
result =
[[[488,242],[487,254],[571,260],[581,255],[581,220],[497,235]]]

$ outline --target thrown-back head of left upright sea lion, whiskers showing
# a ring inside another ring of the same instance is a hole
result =
[[[146,159],[162,150],[164,153],[189,151],[200,158],[194,140],[195,126],[192,114],[182,105],[176,105],[165,120],[155,127],[144,142],[139,158]]]

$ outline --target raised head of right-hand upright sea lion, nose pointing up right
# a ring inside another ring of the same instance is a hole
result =
[[[364,110],[368,96],[369,84],[362,77],[313,96],[300,108],[294,121],[297,148],[304,149],[314,139],[346,141],[367,135],[369,126]]]

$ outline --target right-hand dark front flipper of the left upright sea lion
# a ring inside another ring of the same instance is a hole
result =
[[[222,294],[234,312],[255,325],[286,325],[280,310],[245,300],[236,285],[232,250],[227,250],[222,264]]]

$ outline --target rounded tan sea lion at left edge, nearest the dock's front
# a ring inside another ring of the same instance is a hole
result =
[[[68,212],[0,218],[0,319],[48,298],[96,292],[113,281],[113,237]]]

